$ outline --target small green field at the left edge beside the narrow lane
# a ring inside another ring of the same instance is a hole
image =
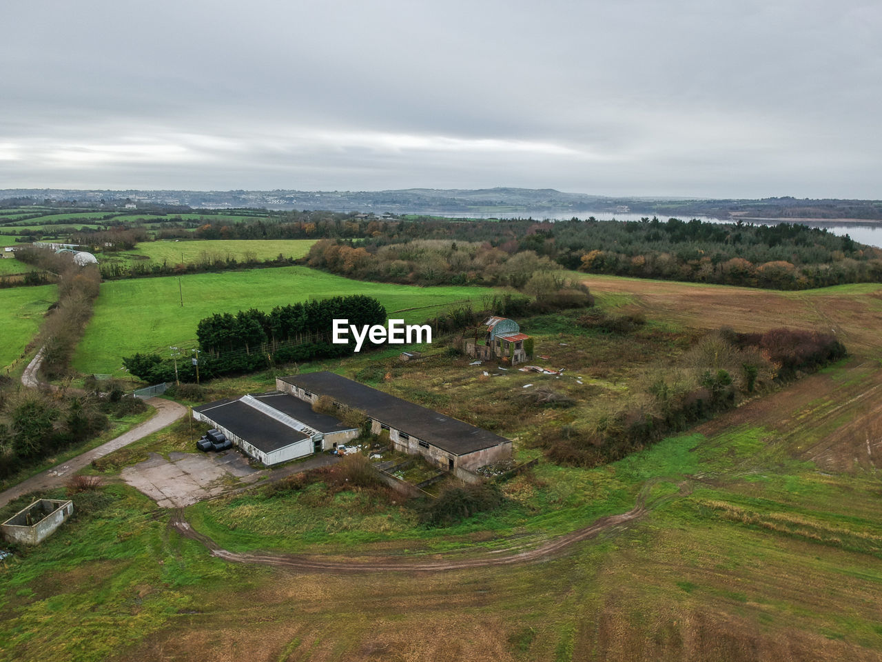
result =
[[[0,290],[0,367],[19,357],[40,328],[43,314],[55,301],[55,285]]]

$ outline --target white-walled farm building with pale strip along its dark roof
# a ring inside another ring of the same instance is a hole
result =
[[[193,408],[193,418],[216,427],[266,466],[335,448],[358,434],[357,429],[284,393],[209,402]]]

